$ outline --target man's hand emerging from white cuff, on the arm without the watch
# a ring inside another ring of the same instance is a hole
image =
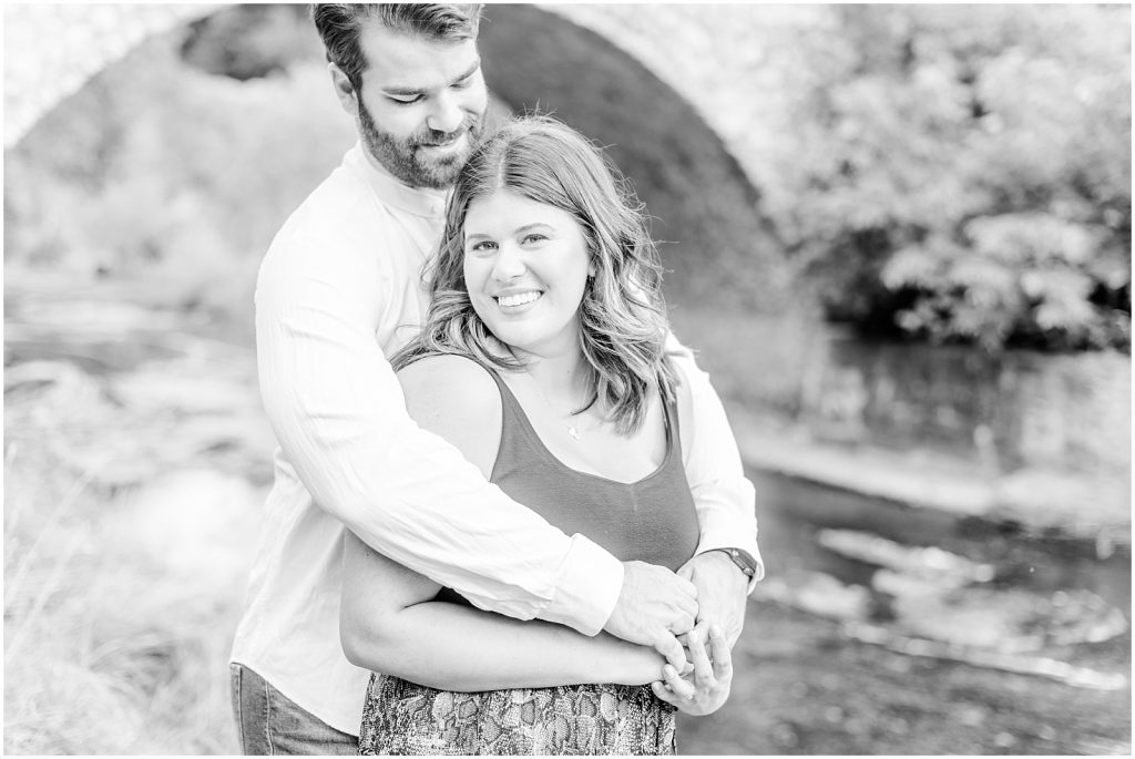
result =
[[[678,672],[686,672],[686,651],[676,636],[693,630],[697,597],[689,580],[666,567],[624,562],[623,587],[603,629],[615,638],[649,646]]]

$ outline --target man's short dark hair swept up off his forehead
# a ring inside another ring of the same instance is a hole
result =
[[[338,66],[355,91],[362,91],[367,58],[359,45],[363,24],[378,23],[411,36],[444,42],[476,40],[482,6],[424,3],[320,2],[311,18],[327,49],[327,60]]]

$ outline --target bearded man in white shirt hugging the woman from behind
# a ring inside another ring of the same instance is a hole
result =
[[[763,570],[753,489],[721,404],[688,362],[687,464],[701,529],[679,576],[565,535],[417,428],[385,355],[427,306],[422,263],[482,130],[477,6],[321,5],[331,79],[360,144],[292,214],[257,286],[276,484],[233,647],[245,753],[353,753],[368,673],[338,639],[344,525],[476,606],[605,630],[684,664],[696,616],[735,640]],[[476,656],[476,652],[471,652]]]

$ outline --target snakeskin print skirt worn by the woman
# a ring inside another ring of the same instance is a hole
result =
[[[674,708],[648,685],[566,685],[479,693],[371,675],[363,754],[674,753]]]

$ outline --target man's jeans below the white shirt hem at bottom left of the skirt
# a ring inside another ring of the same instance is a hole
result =
[[[359,739],[342,733],[277,691],[247,667],[230,663],[233,716],[246,756],[354,756]]]

